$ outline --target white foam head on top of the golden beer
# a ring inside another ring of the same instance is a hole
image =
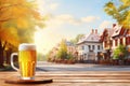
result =
[[[20,44],[18,51],[36,51],[36,45],[29,43],[23,43]]]

